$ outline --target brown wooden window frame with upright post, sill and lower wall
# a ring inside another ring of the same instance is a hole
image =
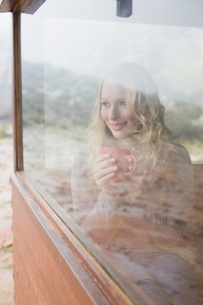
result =
[[[20,43],[20,12],[14,12],[11,184],[15,304],[153,305],[82,234],[74,220],[64,216],[55,200],[45,191],[41,195],[23,173]]]

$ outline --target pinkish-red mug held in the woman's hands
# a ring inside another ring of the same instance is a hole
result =
[[[117,184],[124,181],[125,176],[135,171],[137,166],[137,160],[135,156],[130,155],[130,149],[128,147],[102,147],[101,153],[109,153],[111,158],[115,159],[113,166],[117,166],[118,170],[115,172],[113,178],[108,181],[108,184]],[[129,171],[128,159],[134,160],[134,167]]]

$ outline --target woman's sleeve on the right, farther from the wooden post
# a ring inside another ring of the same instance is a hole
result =
[[[162,245],[175,247],[185,235],[190,217],[193,191],[192,166],[187,150],[178,145],[170,154],[169,183],[162,204],[148,201],[144,223]]]

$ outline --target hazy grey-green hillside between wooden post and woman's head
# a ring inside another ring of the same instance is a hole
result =
[[[87,125],[98,79],[45,64],[22,63],[24,123],[34,120],[67,128]]]

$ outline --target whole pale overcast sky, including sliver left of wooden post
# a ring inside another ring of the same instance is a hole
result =
[[[200,13],[195,6],[200,1],[191,6],[185,0],[181,18],[177,12],[182,1],[171,1],[168,7],[166,0],[154,0],[154,7],[148,0],[139,6],[133,1],[128,19],[116,17],[114,0],[60,0],[62,10],[55,0],[46,1],[34,15],[22,14],[22,58],[99,77],[118,62],[134,61],[149,71],[163,94],[197,95],[203,92],[203,28],[197,27]],[[167,25],[171,7],[175,26]],[[0,38],[10,26],[10,14],[0,14]]]

